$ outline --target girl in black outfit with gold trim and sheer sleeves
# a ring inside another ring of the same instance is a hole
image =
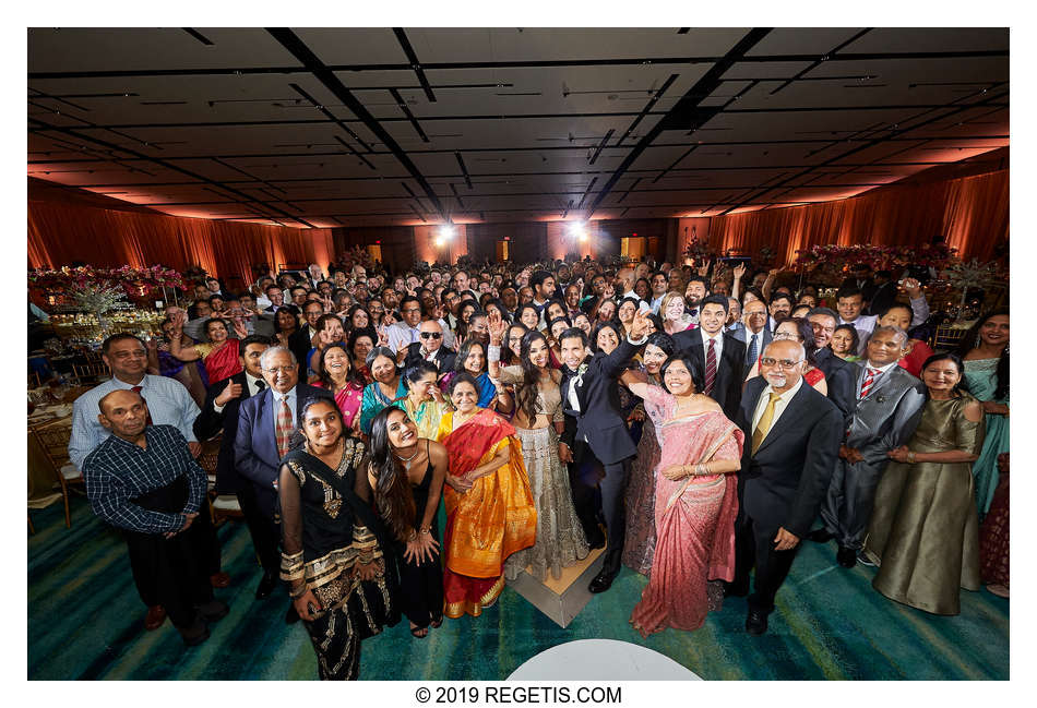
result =
[[[301,447],[282,460],[281,577],[310,633],[322,680],[357,679],[360,640],[400,619],[395,556],[369,506],[363,443],[326,398],[300,401]]]

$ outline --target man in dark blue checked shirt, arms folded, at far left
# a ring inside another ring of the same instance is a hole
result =
[[[204,507],[205,471],[172,425],[148,425],[139,392],[100,399],[98,422],[111,434],[86,456],[91,507],[122,530],[131,555],[146,557],[158,601],[188,646],[208,638],[207,622],[227,615],[213,598],[207,559],[214,542]]]

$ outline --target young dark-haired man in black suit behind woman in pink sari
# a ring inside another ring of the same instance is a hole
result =
[[[738,419],[746,380],[746,345],[725,332],[727,298],[707,296],[699,308],[699,326],[674,335],[674,344],[682,353],[702,364],[706,396],[720,404],[724,415]]]

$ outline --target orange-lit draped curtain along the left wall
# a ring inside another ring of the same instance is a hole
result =
[[[291,229],[119,212],[61,202],[29,201],[28,265],[60,267],[83,261],[98,267],[156,263],[183,271],[200,265],[222,278],[250,284],[252,264],[318,263],[334,255],[331,229]]]

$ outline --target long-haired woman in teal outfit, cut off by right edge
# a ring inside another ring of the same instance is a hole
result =
[[[980,317],[962,340],[965,383],[982,403],[987,437],[979,459],[973,463],[976,505],[982,517],[998,488],[998,455],[1009,452],[1009,311],[994,310]]]

